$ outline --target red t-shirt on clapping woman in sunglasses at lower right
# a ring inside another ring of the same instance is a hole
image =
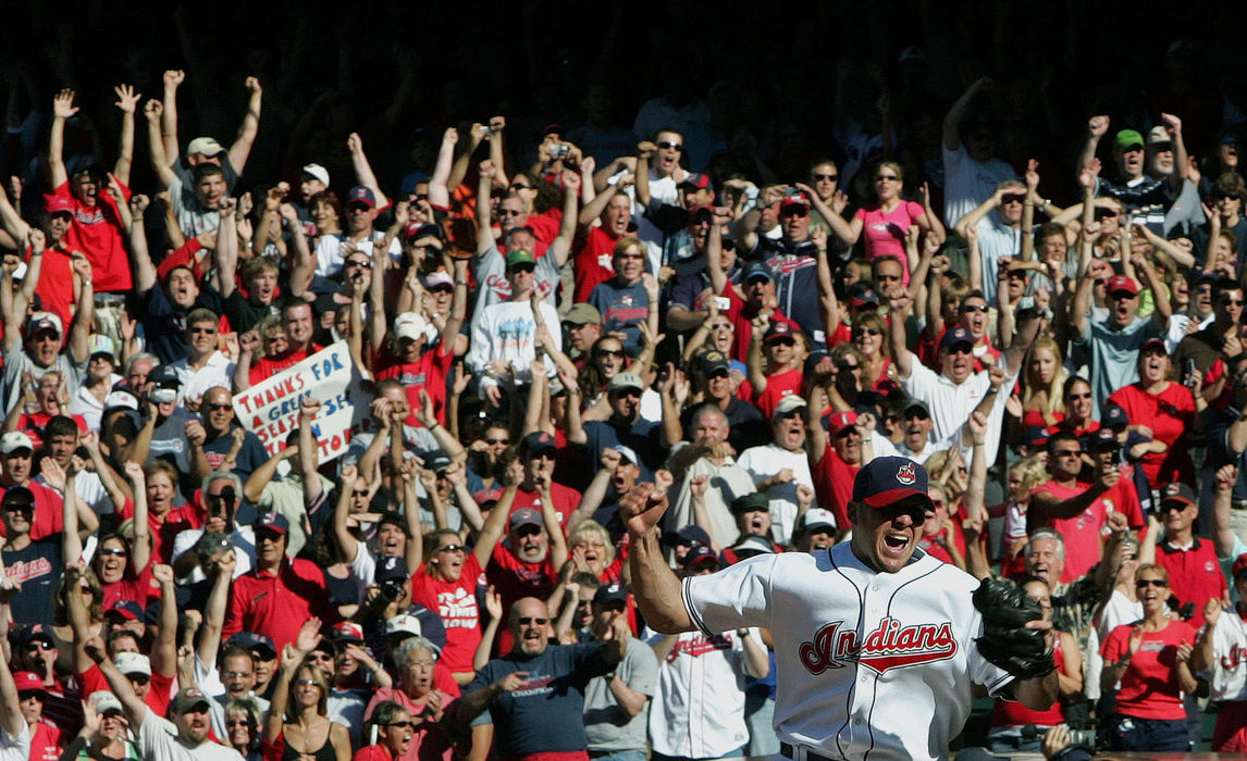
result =
[[[1134,624],[1122,624],[1109,633],[1100,646],[1105,664],[1116,663],[1130,653],[1134,628]],[[1119,714],[1167,721],[1186,719],[1177,679],[1177,646],[1182,643],[1195,645],[1195,629],[1186,622],[1168,619],[1168,625],[1160,631],[1143,631],[1143,641],[1121,676]]]

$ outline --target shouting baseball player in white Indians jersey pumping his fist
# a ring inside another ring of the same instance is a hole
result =
[[[1008,582],[975,592],[973,577],[918,549],[932,502],[927,472],[910,460],[878,457],[857,475],[850,542],[683,582],[658,546],[666,507],[648,484],[620,503],[646,620],[668,634],[768,629],[776,731],[794,761],[945,757],[969,715],[971,681],[1036,710],[1056,697],[1039,604]]]

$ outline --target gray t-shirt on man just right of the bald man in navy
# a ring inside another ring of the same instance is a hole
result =
[[[653,697],[658,681],[658,659],[653,649],[635,636],[628,639],[624,661],[615,673],[630,689]],[[606,676],[595,676],[585,686],[585,735],[591,751],[646,750],[650,727],[650,702],[636,716],[628,716],[611,692]]]

